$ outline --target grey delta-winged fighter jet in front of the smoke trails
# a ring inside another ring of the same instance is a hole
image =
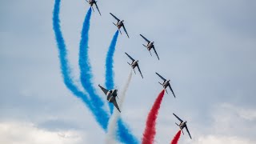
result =
[[[118,97],[118,90],[106,90],[104,87],[98,85],[102,91],[104,92],[104,94],[106,94],[106,100],[109,102],[112,102],[114,104],[114,106],[118,109],[118,111],[121,113],[121,111],[119,110],[118,107],[118,103],[116,101],[116,97]]]

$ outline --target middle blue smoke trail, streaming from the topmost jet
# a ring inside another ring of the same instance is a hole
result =
[[[93,83],[92,83],[92,74],[91,66],[89,62],[88,50],[89,50],[89,30],[90,30],[90,16],[91,8],[87,11],[86,18],[83,22],[82,32],[81,32],[81,41],[80,41],[80,50],[79,50],[79,67],[80,67],[80,79],[82,86],[90,94],[90,101],[95,106],[94,113],[97,114],[98,122],[103,127],[104,130],[107,128],[107,122],[109,120],[109,114],[104,110],[104,103],[102,99],[96,94]]]

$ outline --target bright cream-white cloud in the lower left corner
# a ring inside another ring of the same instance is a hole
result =
[[[0,122],[0,142],[18,144],[79,144],[86,143],[79,131],[49,131],[30,122]]]

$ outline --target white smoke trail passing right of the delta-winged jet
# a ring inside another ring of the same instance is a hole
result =
[[[132,74],[133,74],[133,71],[130,70],[128,79],[127,79],[125,85],[122,87],[121,93],[118,96],[118,98],[120,98],[119,102],[118,102],[118,106],[119,106],[120,110],[122,110],[122,103],[126,99],[126,91],[128,90],[128,87],[130,85],[130,80],[131,80]],[[114,108],[114,113],[112,114],[112,117],[110,118],[109,124],[107,126],[106,144],[117,143],[115,141],[115,139],[116,139],[115,135],[116,135],[116,130],[117,130],[117,121],[118,121],[119,117],[120,117],[119,111],[116,108]]]

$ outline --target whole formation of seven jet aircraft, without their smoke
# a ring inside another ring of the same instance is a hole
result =
[[[95,5],[95,6],[96,6],[96,9],[98,10],[98,13],[99,13],[100,15],[102,15],[102,14],[100,13],[100,10],[98,9],[97,1],[95,1],[95,0],[89,0],[89,1],[86,0],[86,2],[89,3],[89,5],[90,5],[90,7],[92,8],[92,10],[94,10],[93,6]],[[113,24],[114,24],[114,26],[117,26],[118,31],[120,32],[120,34],[122,34],[122,32],[121,32],[120,29],[123,28],[123,30],[126,32],[127,37],[130,38],[130,37],[129,37],[129,34],[127,33],[126,27],[125,27],[125,25],[124,25],[124,20],[120,20],[119,18],[117,18],[117,17],[116,17],[114,14],[112,14],[112,13],[110,13],[110,15],[111,15],[115,20],[117,20],[117,23],[114,23],[114,22],[113,22]],[[142,34],[140,34],[140,36],[147,42],[146,45],[142,44],[142,46],[145,46],[146,49],[147,49],[149,52],[150,52],[150,50],[153,49],[153,50],[154,50],[154,53],[155,53],[156,56],[158,57],[158,60],[160,60],[160,59],[159,59],[159,56],[158,56],[158,53],[157,53],[157,51],[155,50],[154,42],[149,41],[149,40],[148,40],[146,37],[144,37]],[[129,62],[127,62],[127,63],[131,66],[131,68],[132,68],[133,70],[137,67],[137,68],[138,68],[138,72],[141,74],[141,76],[142,76],[142,78],[143,78],[142,71],[140,70],[140,68],[139,68],[139,66],[138,66],[138,60],[135,60],[134,58],[132,58],[132,57],[131,57],[129,54],[127,54],[127,53],[125,53],[125,54],[128,56],[128,58],[130,58],[130,60],[132,60],[131,63],[129,63]],[[152,56],[151,52],[150,52],[150,55]],[[135,70],[134,70],[134,73],[136,74]],[[155,74],[157,74],[158,77],[160,77],[160,78],[163,80],[162,83],[159,82],[159,84],[162,85],[163,89],[166,90],[166,88],[169,87],[169,88],[170,88],[170,91],[171,91],[172,94],[174,95],[174,98],[176,98],[176,96],[175,96],[175,94],[174,94],[174,90],[173,90],[172,87],[170,86],[170,80],[166,80],[166,78],[163,78],[163,77],[162,77],[160,74],[158,74],[157,72],[156,72]],[[114,106],[116,107],[116,109],[121,113],[121,110],[119,109],[118,103],[117,103],[117,101],[116,101],[116,98],[118,98],[118,90],[116,90],[116,89],[114,89],[114,90],[106,90],[106,88],[104,88],[103,86],[100,86],[100,85],[98,85],[98,86],[101,88],[101,90],[103,91],[103,93],[106,94],[106,100],[107,100],[108,102],[113,103]],[[166,93],[168,94],[167,90],[166,90]],[[182,120],[181,118],[179,118],[176,114],[174,114],[174,117],[175,117],[175,118],[178,118],[178,121],[180,121],[180,124],[176,123],[176,125],[179,127],[180,130],[182,130],[182,134],[184,134],[184,133],[183,133],[183,128],[186,128],[187,133],[189,134],[190,138],[192,139],[192,137],[191,137],[191,135],[190,135],[190,131],[188,130],[188,128],[187,128],[187,126],[186,126],[186,123],[187,123],[187,122],[186,122],[186,121],[183,121],[183,120]]]

